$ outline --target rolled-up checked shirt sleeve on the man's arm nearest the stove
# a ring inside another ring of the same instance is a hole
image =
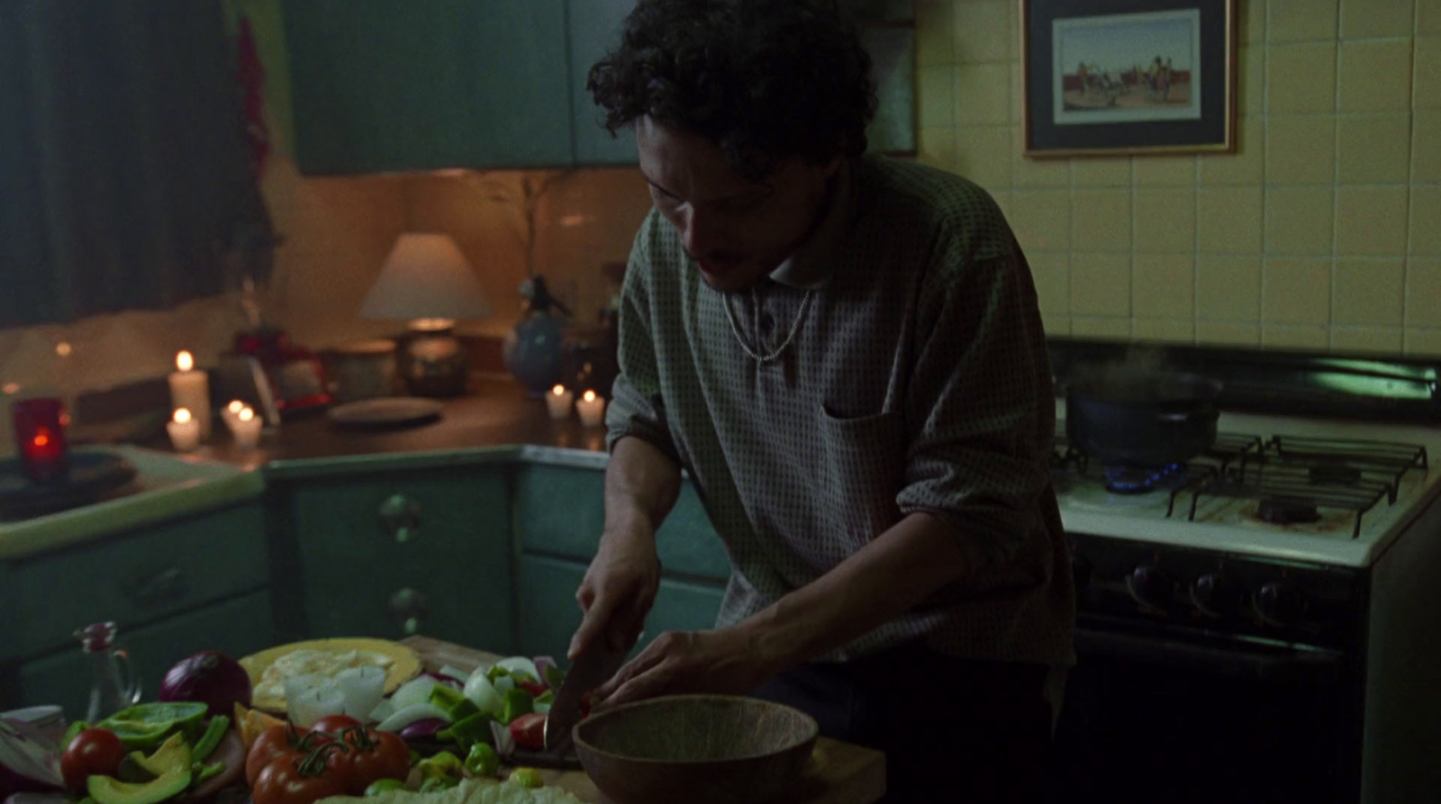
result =
[[[997,210],[996,215],[1000,215]],[[909,448],[896,503],[947,522],[980,565],[1045,539],[1055,398],[1020,248],[944,238],[916,301]]]

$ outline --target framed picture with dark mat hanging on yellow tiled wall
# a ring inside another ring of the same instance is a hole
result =
[[[1026,156],[1229,153],[1236,0],[1019,0]]]

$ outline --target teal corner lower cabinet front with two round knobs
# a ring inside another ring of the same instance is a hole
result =
[[[425,634],[513,644],[501,463],[268,480],[282,640]]]

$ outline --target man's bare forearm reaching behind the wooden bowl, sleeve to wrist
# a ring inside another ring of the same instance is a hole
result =
[[[905,614],[971,565],[948,524],[912,513],[736,628],[769,673],[780,673]]]

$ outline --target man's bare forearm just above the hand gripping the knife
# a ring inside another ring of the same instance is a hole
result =
[[[654,537],[677,496],[680,467],[644,438],[621,438],[605,468],[605,535]]]

